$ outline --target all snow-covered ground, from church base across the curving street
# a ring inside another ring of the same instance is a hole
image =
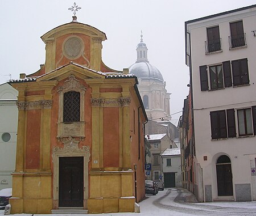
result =
[[[147,195],[147,198],[139,203],[141,213],[109,213],[87,214],[104,216],[186,216],[186,215],[256,215],[256,202],[211,202],[211,203],[186,203],[186,197],[191,199],[191,193],[183,188],[170,188],[159,191],[156,196]],[[4,210],[0,210],[3,215]],[[75,215],[75,214],[74,214]],[[15,216],[31,216],[31,214],[15,214]],[[36,216],[36,214],[34,215]],[[40,214],[43,216],[43,214]],[[50,216],[50,215],[48,215]],[[60,216],[53,215],[51,216]],[[79,215],[77,215],[79,216]]]

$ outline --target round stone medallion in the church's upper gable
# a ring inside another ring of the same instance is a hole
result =
[[[84,46],[79,37],[69,37],[63,45],[63,53],[67,58],[75,59],[81,56]]]

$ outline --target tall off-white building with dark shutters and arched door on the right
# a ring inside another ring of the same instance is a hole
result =
[[[185,22],[200,202],[256,200],[256,5]]]

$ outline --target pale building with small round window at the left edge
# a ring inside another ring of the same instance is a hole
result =
[[[0,85],[0,189],[11,188],[11,173],[15,170],[18,91],[10,84]]]

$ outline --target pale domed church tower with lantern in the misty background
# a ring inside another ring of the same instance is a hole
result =
[[[138,88],[146,109],[148,120],[171,120],[170,93],[167,93],[163,75],[148,61],[147,45],[143,42],[137,45],[137,61],[129,67],[129,73],[138,77]],[[148,132],[151,133],[151,132]]]

